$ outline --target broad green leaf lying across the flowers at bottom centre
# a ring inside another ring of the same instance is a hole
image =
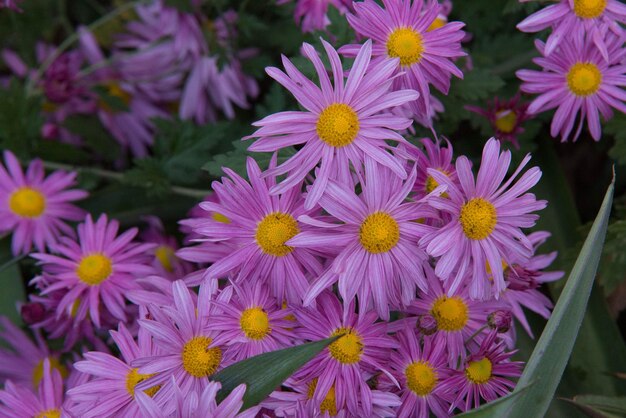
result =
[[[217,401],[221,402],[233,389],[245,383],[242,410],[257,405],[337,338],[272,351],[228,366],[211,377],[222,384]]]

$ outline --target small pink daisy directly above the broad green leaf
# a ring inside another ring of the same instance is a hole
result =
[[[215,303],[221,312],[211,317],[207,328],[220,332],[215,343],[225,347],[224,362],[235,363],[293,344],[294,323],[287,319],[291,310],[282,309],[266,286],[235,284],[222,294]]]

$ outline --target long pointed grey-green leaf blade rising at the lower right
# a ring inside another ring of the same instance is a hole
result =
[[[493,402],[462,416],[527,418],[545,415],[567,365],[585,314],[602,254],[602,245],[613,203],[614,186],[615,179],[604,196],[598,216],[572,268],[552,316],[524,368],[524,373],[517,382],[514,394],[524,388],[524,395],[510,396],[504,402]],[[528,387],[531,382],[533,382],[532,386]]]

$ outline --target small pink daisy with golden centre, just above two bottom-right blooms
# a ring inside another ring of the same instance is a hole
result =
[[[448,353],[448,361],[455,366],[464,359],[468,345],[473,345],[474,337],[479,336],[487,324],[487,315],[504,305],[497,301],[476,301],[469,298],[467,289],[460,289],[451,295],[446,284],[442,284],[427,269],[429,288],[421,292],[407,311],[415,315],[418,326],[423,319],[433,320],[433,327],[427,331],[433,335],[436,344],[442,344]],[[408,321],[411,325],[413,320]]]

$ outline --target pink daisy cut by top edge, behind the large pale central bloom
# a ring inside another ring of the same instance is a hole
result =
[[[411,88],[419,92],[416,115],[432,118],[429,84],[444,94],[450,88],[451,75],[463,78],[463,72],[452,62],[466,54],[461,50],[464,23],[444,23],[431,29],[441,6],[435,0],[383,0],[384,7],[373,0],[354,3],[354,14],[348,22],[361,36],[371,38],[372,64],[387,58],[399,58],[403,72],[394,81],[394,90]],[[357,45],[346,45],[340,52],[356,55]],[[428,126],[431,121],[428,121]]]

